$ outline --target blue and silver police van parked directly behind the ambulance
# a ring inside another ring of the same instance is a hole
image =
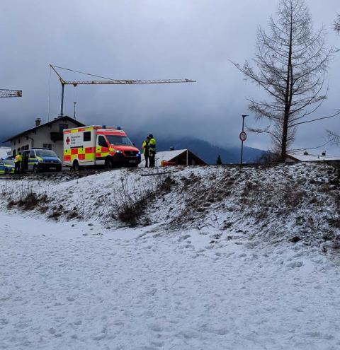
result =
[[[21,156],[23,156],[23,161],[21,162],[21,170],[23,172],[62,171],[62,161],[49,148],[30,148],[26,151],[21,151]]]

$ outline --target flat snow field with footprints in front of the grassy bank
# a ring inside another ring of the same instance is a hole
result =
[[[0,221],[0,349],[340,347],[339,265],[317,248]]]

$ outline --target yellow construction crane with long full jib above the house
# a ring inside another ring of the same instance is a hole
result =
[[[169,84],[169,83],[196,83],[195,80],[190,79],[163,79],[163,80],[117,80],[112,78],[107,78],[105,76],[96,76],[94,74],[84,73],[83,71],[74,71],[73,69],[63,68],[60,66],[54,66],[50,64],[51,69],[55,71],[55,74],[59,77],[60,83],[62,84],[62,102],[60,104],[60,116],[64,115],[64,87],[65,85],[129,85],[129,84]],[[96,78],[101,78],[105,80],[92,80],[92,81],[65,81],[57,69],[64,69],[65,71],[72,71],[79,74],[85,74],[87,76],[94,76]],[[74,105],[75,107],[75,105]],[[74,113],[75,114],[75,113]]]

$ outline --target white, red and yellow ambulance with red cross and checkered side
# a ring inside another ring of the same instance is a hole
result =
[[[120,127],[91,125],[64,130],[64,165],[73,170],[91,165],[137,168],[140,151]]]

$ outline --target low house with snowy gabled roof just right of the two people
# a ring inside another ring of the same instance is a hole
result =
[[[156,166],[166,165],[207,165],[188,149],[161,151],[156,153]],[[145,167],[145,158],[142,157],[140,167]]]

